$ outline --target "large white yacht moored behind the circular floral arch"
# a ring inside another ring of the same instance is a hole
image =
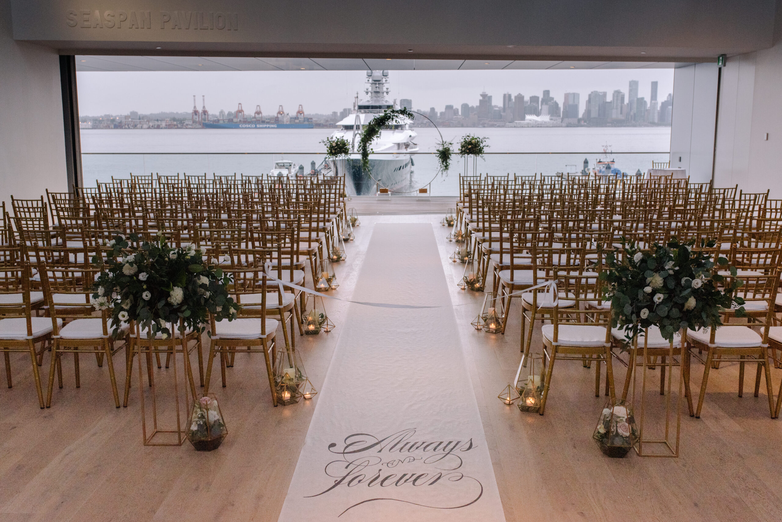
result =
[[[375,195],[379,188],[389,188],[392,191],[404,191],[410,184],[412,167],[414,166],[411,152],[418,151],[414,139],[418,136],[411,129],[412,120],[405,119],[400,123],[384,127],[380,135],[371,144],[374,154],[369,155],[370,173],[364,172],[361,166],[361,154],[358,144],[361,132],[375,116],[386,109],[396,109],[396,100],[389,102],[389,72],[387,70],[368,70],[367,87],[364,101],[353,102],[353,113],[337,123],[339,130],[332,138],[345,138],[350,143],[350,158],[324,162],[322,168],[326,175],[336,173],[346,175],[346,190],[350,195]]]

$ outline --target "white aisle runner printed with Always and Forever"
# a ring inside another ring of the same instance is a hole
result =
[[[281,522],[505,520],[430,223],[377,224]]]

